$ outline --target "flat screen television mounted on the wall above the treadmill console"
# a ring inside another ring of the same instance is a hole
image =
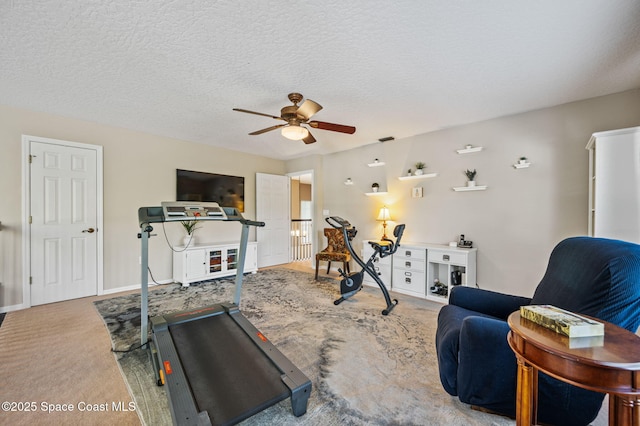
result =
[[[216,202],[244,212],[244,177],[176,169],[176,201]]]

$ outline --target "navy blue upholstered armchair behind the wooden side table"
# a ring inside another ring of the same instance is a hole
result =
[[[552,251],[533,298],[472,287],[451,291],[438,315],[436,350],[440,381],[460,401],[515,416],[516,358],[507,343],[506,319],[522,305],[555,305],[636,332],[640,326],[640,245],[572,237]],[[540,373],[538,420],[586,425],[604,394]]]

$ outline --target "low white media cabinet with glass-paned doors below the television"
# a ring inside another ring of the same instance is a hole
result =
[[[174,247],[173,280],[188,286],[192,282],[235,275],[240,243],[192,244]],[[244,272],[258,270],[258,243],[249,242]]]

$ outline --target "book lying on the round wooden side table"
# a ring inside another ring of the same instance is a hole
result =
[[[552,305],[521,306],[520,316],[569,337],[604,335],[603,323]]]

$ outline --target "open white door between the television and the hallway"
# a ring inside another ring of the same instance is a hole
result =
[[[256,220],[265,223],[256,230],[258,268],[289,262],[289,188],[288,176],[256,173]]]

